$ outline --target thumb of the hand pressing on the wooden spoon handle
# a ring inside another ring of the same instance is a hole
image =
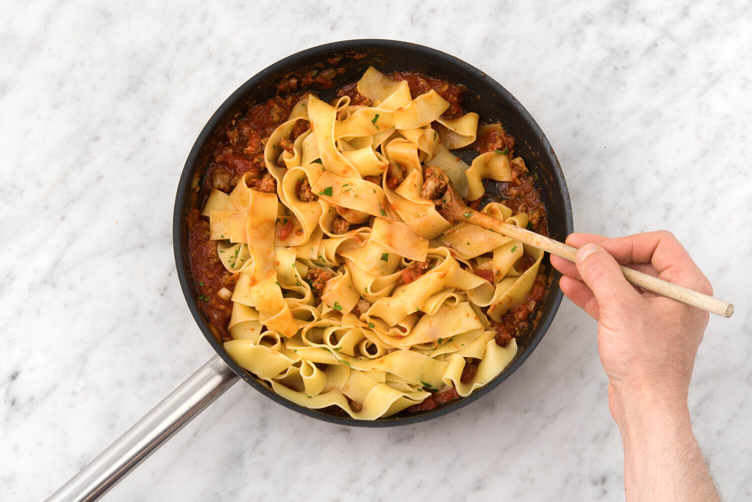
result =
[[[593,291],[599,305],[639,296],[624,278],[619,263],[599,245],[588,242],[581,246],[575,254],[575,264],[580,277]]]

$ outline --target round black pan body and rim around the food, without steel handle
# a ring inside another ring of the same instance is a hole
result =
[[[341,59],[338,62],[333,62],[339,55],[342,55]],[[327,62],[327,59],[330,62]],[[198,293],[191,279],[187,254],[188,239],[184,223],[186,215],[190,211],[192,187],[196,186],[196,181],[200,181],[205,173],[211,155],[217,146],[218,138],[223,134],[223,126],[228,120],[238,114],[243,114],[251,106],[275,96],[277,84],[280,81],[290,75],[305,73],[312,65],[317,63],[323,63],[325,68],[344,68],[344,71],[332,79],[333,85],[330,90],[299,87],[293,92],[312,90],[320,93],[323,99],[326,99],[328,95],[333,97],[335,89],[357,81],[368,66],[374,66],[383,73],[418,71],[430,77],[441,78],[462,85],[465,87],[465,92],[462,94],[464,111],[475,111],[481,116],[482,123],[501,122],[509,134],[516,139],[517,154],[523,157],[530,171],[538,175],[535,184],[541,191],[541,200],[546,207],[550,237],[563,241],[569,233],[572,233],[572,208],[569,201],[569,192],[559,162],[553,153],[553,148],[549,145],[535,120],[520,105],[520,102],[517,102],[517,99],[514,99],[514,96],[511,96],[501,85],[484,72],[468,65],[468,63],[429,47],[402,41],[378,39],[341,41],[293,54],[293,56],[282,59],[280,62],[260,71],[259,74],[250,78],[232,96],[226,99],[208,121],[199,138],[196,139],[180,177],[173,219],[175,263],[183,294],[193,318],[196,319],[196,323],[214,350],[223,357],[223,360],[229,364],[235,373],[238,373],[253,388],[283,406],[320,420],[361,427],[405,425],[445,415],[487,394],[492,388],[507,379],[511,373],[514,373],[520,367],[543,338],[562,299],[562,293],[559,290],[559,273],[550,266],[547,258],[544,260],[544,265],[545,273],[550,279],[550,287],[538,306],[537,321],[531,323],[522,333],[520,339],[517,340],[519,346],[517,355],[496,379],[468,397],[451,401],[438,408],[414,414],[393,415],[390,418],[380,418],[374,421],[356,420],[349,416],[342,417],[304,408],[274,394],[265,382],[256,379],[252,374],[239,367],[235,361],[232,361],[221,342],[209,329],[209,322],[199,309]]]

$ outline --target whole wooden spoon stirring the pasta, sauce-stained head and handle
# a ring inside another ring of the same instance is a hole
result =
[[[452,184],[447,175],[444,175],[440,169],[432,166],[426,169],[426,182],[430,177],[439,178],[444,184],[446,184],[446,192],[441,198],[436,199],[436,208],[441,216],[452,223],[457,221],[464,221],[465,223],[478,225],[487,230],[492,230],[502,234],[503,236],[517,239],[523,244],[530,245],[534,248],[548,251],[550,254],[555,254],[558,257],[565,258],[569,261],[575,261],[575,252],[577,248],[572,248],[570,245],[566,245],[563,242],[549,239],[548,237],[541,236],[538,233],[531,232],[517,225],[511,225],[504,221],[497,220],[490,216],[490,214],[481,213],[474,209],[468,208],[465,202],[462,201],[462,196],[459,195],[456,188]],[[667,281],[662,281],[660,278],[647,275],[637,270],[629,269],[626,266],[621,266],[621,271],[627,281],[635,284],[639,288],[646,291],[652,291],[662,295],[663,297],[672,298],[681,303],[686,303],[697,307],[698,309],[706,310],[712,314],[721,315],[725,318],[731,317],[734,313],[734,306],[731,303],[718,300],[714,297],[708,297],[706,294],[698,293],[697,291],[683,288],[677,284],[672,284]]]

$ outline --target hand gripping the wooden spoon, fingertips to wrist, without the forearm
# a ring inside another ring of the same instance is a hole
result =
[[[621,425],[623,407],[631,403],[686,406],[708,312],[638,290],[619,264],[712,295],[708,279],[666,231],[617,239],[573,233],[566,243],[579,248],[578,263],[551,256],[551,264],[564,274],[564,294],[598,321],[614,419]]]

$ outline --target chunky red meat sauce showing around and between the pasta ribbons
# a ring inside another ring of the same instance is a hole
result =
[[[319,71],[314,68],[302,77],[287,78],[277,87],[280,92],[294,90],[298,87],[298,84],[304,86],[318,84],[318,87],[326,89],[331,87],[331,85],[327,86],[327,82],[334,75],[335,73],[332,71]],[[453,118],[463,114],[461,108],[462,87],[410,71],[395,71],[387,76],[394,81],[407,81],[413,98],[427,93],[429,90],[435,90],[439,96],[450,103],[449,108],[443,114],[444,117]],[[329,82],[329,84],[331,83]],[[223,135],[214,151],[214,156],[208,166],[199,193],[193,197],[193,208],[186,218],[190,267],[196,290],[199,292],[199,307],[205,313],[211,329],[219,339],[230,339],[227,325],[232,314],[232,300],[223,300],[217,293],[222,288],[232,291],[235,287],[235,278],[220,263],[216,244],[208,240],[208,218],[201,216],[200,208],[212,188],[229,193],[232,187],[240,181],[241,176],[248,172],[251,173],[250,178],[262,178],[265,174],[263,159],[265,142],[274,132],[274,129],[287,119],[293,106],[307,95],[308,93],[295,93],[288,96],[275,96],[253,106],[243,116],[230,120],[224,126]],[[350,102],[353,105],[372,105],[369,99],[357,92],[357,82],[341,87],[337,91],[337,95],[350,96]],[[308,122],[300,120],[293,129],[291,139],[294,140],[308,128]],[[478,138],[473,146],[479,153],[508,148],[510,154],[513,154],[514,138],[500,128],[491,128],[481,138]],[[535,226],[532,230],[547,235],[545,209],[538,190],[535,190],[532,176],[526,169],[521,169],[514,163],[513,171],[512,181],[506,183],[493,181],[496,184],[496,190],[491,187],[491,191],[494,193],[488,195],[491,198],[495,196],[496,199],[502,199],[505,205],[514,212],[525,211],[530,214],[531,211],[538,211],[538,218],[530,218],[531,222],[535,220]],[[280,238],[283,238],[281,234],[288,234],[290,231],[292,231],[292,224],[289,225],[289,228],[284,225],[280,227],[278,230]],[[532,258],[527,255],[524,255],[520,260],[520,263],[517,263],[518,267],[527,268],[533,263]],[[416,280],[433,265],[434,263],[429,262],[414,263],[403,271],[401,282],[407,284]],[[490,271],[478,270],[475,273],[488,281],[493,280]],[[493,323],[497,332],[496,343],[506,346],[513,337],[520,336],[520,333],[529,324],[530,315],[535,311],[537,303],[542,300],[545,290],[546,278],[539,274],[526,303],[507,312],[502,317],[501,323]],[[472,377],[475,376],[475,370],[477,370],[477,363],[478,361],[467,361],[465,370],[462,372],[462,382],[472,380]],[[426,411],[458,397],[459,394],[456,390],[450,388],[426,397],[422,403],[410,406],[405,411],[408,413]],[[351,406],[356,409],[361,405],[353,402]],[[335,415],[341,414],[341,410],[335,408],[335,406],[328,407],[326,411],[331,411]]]

